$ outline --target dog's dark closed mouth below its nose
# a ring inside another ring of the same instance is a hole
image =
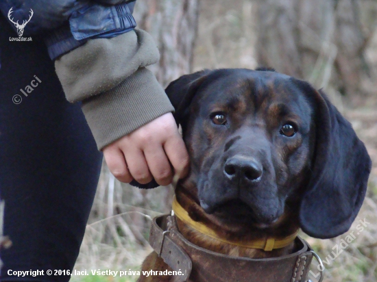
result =
[[[211,214],[224,222],[247,223],[261,229],[271,226],[278,220],[278,218],[271,218],[270,220],[264,218],[260,220],[252,207],[240,199],[232,199],[226,203],[217,205]]]

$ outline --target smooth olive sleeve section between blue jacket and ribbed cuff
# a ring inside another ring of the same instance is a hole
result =
[[[114,38],[88,40],[56,60],[55,68],[66,99],[75,103],[110,91],[159,58],[153,38],[136,29]]]

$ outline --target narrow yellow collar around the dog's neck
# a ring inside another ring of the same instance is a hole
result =
[[[177,216],[180,220],[182,220],[186,225],[189,225],[196,231],[199,231],[200,233],[203,233],[210,238],[219,240],[221,242],[225,242],[228,244],[236,245],[236,246],[242,246],[245,248],[261,248],[265,251],[272,251],[274,248],[284,248],[285,246],[288,246],[295,240],[297,237],[297,233],[300,230],[297,230],[295,233],[287,236],[286,238],[283,238],[281,240],[275,240],[274,238],[268,238],[267,240],[253,240],[251,242],[232,242],[228,241],[223,238],[219,238],[219,235],[215,233],[212,229],[209,229],[204,225],[202,222],[197,222],[191,219],[189,216],[189,213],[184,209],[180,203],[178,203],[177,199],[173,198],[173,211],[175,216]]]

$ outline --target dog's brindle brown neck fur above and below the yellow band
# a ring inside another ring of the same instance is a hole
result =
[[[298,229],[296,220],[283,217],[276,227],[271,229],[258,229],[250,225],[224,225],[215,216],[206,214],[195,199],[196,195],[191,194],[189,190],[178,187],[175,194],[180,206],[184,211],[187,211],[193,222],[200,222],[206,226],[206,229],[209,229],[210,233],[216,233],[216,236],[206,235],[208,232],[201,232],[187,220],[182,220],[176,216],[180,233],[193,244],[210,251],[236,257],[267,258],[293,253],[295,246],[293,243],[294,236],[292,237],[292,235]],[[280,242],[292,238],[292,242],[282,248],[273,248],[271,251],[252,247],[255,242],[271,238]]]

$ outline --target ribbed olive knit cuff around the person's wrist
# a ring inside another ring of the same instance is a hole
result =
[[[101,150],[174,108],[153,73],[139,68],[108,92],[82,101],[82,111]]]

